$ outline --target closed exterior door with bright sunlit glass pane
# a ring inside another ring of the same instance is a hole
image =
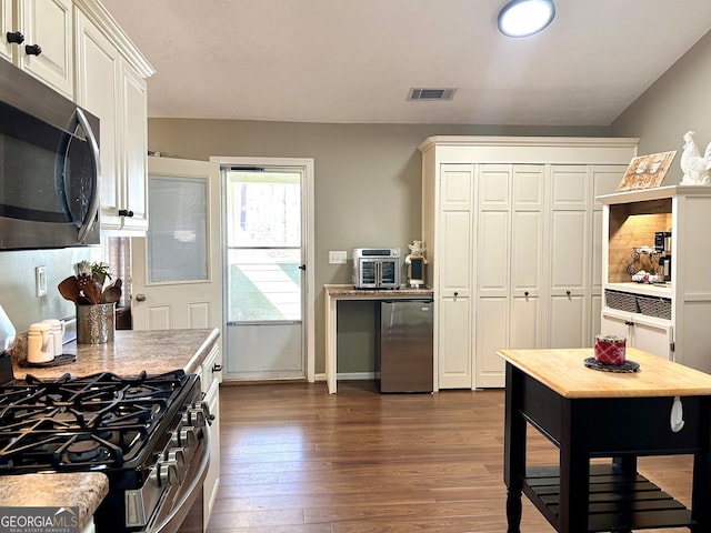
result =
[[[304,378],[303,172],[230,167],[222,175],[226,378]]]

